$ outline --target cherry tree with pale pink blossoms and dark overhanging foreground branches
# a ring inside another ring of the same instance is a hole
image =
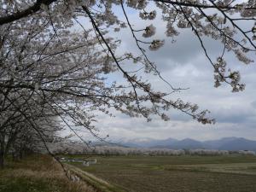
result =
[[[233,52],[238,61],[249,64],[256,50],[255,0],[1,0],[0,8],[2,146],[8,140],[7,129],[19,128],[21,122],[44,140],[38,118],[47,122],[58,117],[78,137],[73,125],[98,137],[95,114],[112,115],[113,109],[131,117],[150,120],[157,114],[168,120],[166,112],[176,108],[202,124],[214,123],[196,104],[171,100],[169,96],[183,88],[173,87],[149,60],[150,51],[165,44],[165,38],[154,38],[156,15],[166,24],[166,38],[175,40],[179,31],[191,29],[212,66],[215,87],[230,84],[234,92],[244,90],[240,73],[228,67],[225,53]],[[127,9],[135,9],[137,19],[152,24],[135,28]],[[241,25],[245,22],[249,28]],[[118,51],[122,39],[116,40],[113,32],[125,27],[137,55]],[[210,57],[204,37],[223,44],[218,58]],[[136,71],[125,67],[131,61]],[[141,71],[157,76],[169,90],[154,90],[148,79],[139,77]],[[109,83],[113,73],[122,74],[124,81]]]

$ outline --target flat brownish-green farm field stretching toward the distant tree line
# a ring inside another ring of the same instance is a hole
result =
[[[79,156],[81,158],[81,156]],[[256,192],[256,157],[97,156],[74,166],[131,192]]]

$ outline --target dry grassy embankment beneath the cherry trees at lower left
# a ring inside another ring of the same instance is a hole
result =
[[[71,182],[61,166],[48,155],[9,161],[0,169],[0,192],[93,192],[84,182]]]

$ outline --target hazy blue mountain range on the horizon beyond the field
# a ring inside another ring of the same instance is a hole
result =
[[[196,141],[194,139],[185,138],[177,140],[168,138],[165,140],[156,140],[151,138],[138,138],[131,140],[123,140],[119,143],[122,146],[131,148],[172,148],[172,149],[219,149],[219,150],[252,150],[256,151],[256,141],[248,140],[242,137],[224,137],[218,140]]]

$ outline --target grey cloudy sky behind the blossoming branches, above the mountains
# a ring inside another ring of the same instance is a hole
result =
[[[121,15],[121,13],[119,13]],[[135,28],[141,29],[152,22],[139,20],[138,13],[128,11],[129,18]],[[123,17],[125,20],[125,18]],[[225,58],[233,70],[241,72],[241,81],[246,84],[246,90],[232,93],[230,86],[222,85],[218,89],[213,87],[213,70],[205,57],[199,41],[191,30],[181,31],[172,44],[172,39],[164,35],[166,24],[160,21],[160,15],[153,21],[157,28],[154,38],[166,39],[166,44],[158,51],[147,50],[147,54],[157,64],[161,75],[175,87],[189,88],[172,96],[181,98],[185,102],[197,103],[201,109],[211,111],[211,117],[217,120],[215,125],[201,125],[184,113],[177,110],[170,111],[170,121],[163,121],[155,117],[151,122],[146,119],[131,119],[124,114],[114,113],[115,118],[99,114],[98,123],[101,136],[109,134],[110,139],[151,137],[165,139],[186,137],[208,140],[221,137],[246,137],[256,140],[256,63],[244,65],[232,53]],[[122,39],[119,51],[137,53],[134,39],[128,29],[114,34]],[[141,35],[138,33],[138,37]],[[207,49],[215,61],[222,53],[223,45],[206,39]],[[146,47],[145,47],[146,48]],[[255,55],[253,55],[255,56]],[[128,65],[128,64],[127,64]],[[144,76],[155,87],[166,91],[167,86],[157,77]],[[112,77],[113,79],[117,77]]]

